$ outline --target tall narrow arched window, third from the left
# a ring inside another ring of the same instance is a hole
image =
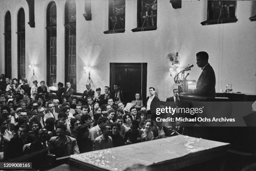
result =
[[[56,53],[56,3],[50,2],[46,11],[46,50],[47,50],[47,85],[56,85],[57,53]]]

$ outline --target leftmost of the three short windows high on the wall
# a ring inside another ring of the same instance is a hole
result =
[[[108,1],[108,33],[125,32],[125,0]]]

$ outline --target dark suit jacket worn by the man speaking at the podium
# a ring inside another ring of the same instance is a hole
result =
[[[194,89],[195,95],[206,96],[206,97],[215,97],[215,73],[210,64],[207,64],[202,70],[198,80],[197,87]]]

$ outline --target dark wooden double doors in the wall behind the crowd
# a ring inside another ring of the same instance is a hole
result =
[[[125,103],[135,100],[135,94],[142,95],[143,104],[146,101],[147,63],[110,63],[110,89],[114,83],[120,84]]]

